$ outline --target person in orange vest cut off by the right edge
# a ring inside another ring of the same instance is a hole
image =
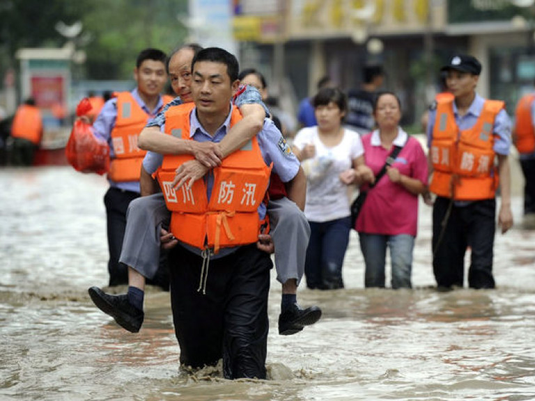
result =
[[[524,214],[535,215],[535,93],[522,96],[516,105],[513,143],[525,178]]]

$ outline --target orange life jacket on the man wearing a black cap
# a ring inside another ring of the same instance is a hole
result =
[[[498,177],[493,172],[493,126],[503,108],[504,102],[486,100],[474,126],[459,131],[453,115],[453,95],[444,93],[437,97],[430,150],[434,172],[429,189],[434,194],[456,201],[495,197]]]

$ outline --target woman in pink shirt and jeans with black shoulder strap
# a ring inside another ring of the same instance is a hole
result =
[[[399,127],[401,104],[391,92],[379,93],[373,116],[378,129],[362,136],[364,160],[373,180],[394,146],[403,146],[387,173],[369,189],[356,229],[364,255],[366,287],[385,287],[387,246],[392,288],[411,288],[412,249],[418,225],[418,195],[427,187],[427,158],[417,139]],[[364,184],[361,190],[368,190]]]

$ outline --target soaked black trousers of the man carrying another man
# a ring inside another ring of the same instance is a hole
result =
[[[223,359],[226,379],[265,379],[270,255],[240,246],[202,269],[203,258],[179,245],[169,263],[180,363],[202,368]]]

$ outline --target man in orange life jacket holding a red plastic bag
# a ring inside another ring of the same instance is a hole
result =
[[[134,69],[137,88],[118,93],[104,104],[93,123],[93,134],[109,144],[109,189],[104,196],[109,247],[109,285],[128,283],[127,267],[119,263],[126,227],[126,212],[139,198],[139,175],[146,154],[137,146],[141,129],[164,107],[160,93],[167,81],[166,54],[159,49],[139,53]],[[160,268],[163,270],[163,267]],[[169,287],[166,272],[152,282]]]

